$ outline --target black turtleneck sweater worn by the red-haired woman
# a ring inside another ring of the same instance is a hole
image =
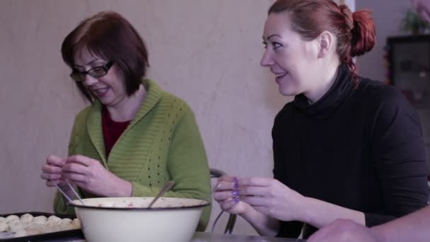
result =
[[[312,105],[287,103],[272,129],[274,178],[306,197],[364,212],[366,226],[426,206],[429,190],[422,129],[393,86],[360,79],[341,65],[335,83]],[[278,236],[303,223],[281,221]],[[305,226],[305,237],[316,229]]]

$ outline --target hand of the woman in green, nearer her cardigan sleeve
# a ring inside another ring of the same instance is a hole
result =
[[[100,161],[86,156],[70,156],[62,168],[67,178],[83,190],[104,197],[129,197],[132,184],[108,171]]]

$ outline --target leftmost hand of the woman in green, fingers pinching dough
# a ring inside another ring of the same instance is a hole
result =
[[[42,166],[42,174],[40,178],[46,180],[47,187],[54,187],[55,184],[60,188],[68,190],[68,187],[62,177],[62,167],[66,164],[66,159],[50,155],[46,159],[46,163]]]

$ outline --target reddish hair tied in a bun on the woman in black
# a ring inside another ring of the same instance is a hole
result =
[[[337,54],[341,63],[347,64],[354,83],[359,77],[352,57],[372,50],[376,30],[370,11],[351,13],[347,5],[337,6],[332,0],[277,0],[269,13],[291,13],[292,29],[303,40],[314,40],[327,30],[337,37]]]

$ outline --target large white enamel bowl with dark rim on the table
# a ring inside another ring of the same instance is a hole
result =
[[[99,197],[74,200],[76,215],[90,242],[190,242],[199,222],[204,200],[161,197]]]

